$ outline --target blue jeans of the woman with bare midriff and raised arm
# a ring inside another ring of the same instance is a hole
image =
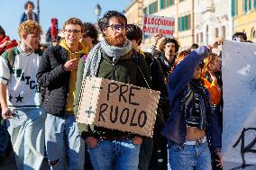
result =
[[[207,142],[199,145],[171,145],[169,147],[171,170],[210,170],[211,154]]]

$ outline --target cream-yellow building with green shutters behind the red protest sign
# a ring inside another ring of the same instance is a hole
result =
[[[144,0],[143,13],[175,18],[174,38],[181,50],[194,42],[194,0]],[[144,44],[150,44],[146,36]]]

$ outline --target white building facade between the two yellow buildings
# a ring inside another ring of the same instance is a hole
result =
[[[195,0],[195,43],[213,42],[218,37],[231,40],[233,19],[228,0]]]

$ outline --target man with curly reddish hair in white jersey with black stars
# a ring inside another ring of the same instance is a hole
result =
[[[40,63],[41,27],[26,21],[18,29],[21,44],[0,58],[0,102],[7,120],[18,169],[40,169],[44,156],[41,89],[36,81]]]

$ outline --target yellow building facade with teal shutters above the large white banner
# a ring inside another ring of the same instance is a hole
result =
[[[256,42],[256,0],[232,0],[233,32],[242,31]]]

